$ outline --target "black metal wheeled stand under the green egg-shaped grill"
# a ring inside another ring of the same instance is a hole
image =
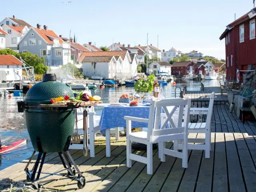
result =
[[[28,166],[30,165],[31,160],[33,159],[36,151],[33,152],[32,156],[30,157],[30,160],[28,161],[28,164],[26,165],[26,168],[24,169],[24,171],[27,174],[27,181],[28,181],[28,182],[25,182],[25,184],[32,184],[32,186],[35,189],[43,188],[44,186],[38,183],[39,180],[42,180],[42,179],[44,179],[46,177],[49,177],[49,176],[52,176],[52,175],[63,176],[62,174],[58,174],[58,173],[60,173],[64,170],[67,170],[68,172],[65,176],[67,176],[69,178],[75,178],[77,180],[78,188],[80,188],[80,189],[84,188],[85,183],[86,183],[85,177],[82,176],[82,173],[78,169],[78,166],[76,165],[76,163],[74,162],[70,152],[68,151],[70,141],[71,141],[71,136],[69,136],[68,139],[67,139],[65,151],[58,152],[58,154],[60,156],[60,160],[61,160],[61,162],[64,166],[64,169],[62,169],[60,171],[57,171],[57,172],[54,172],[54,173],[45,173],[45,172],[41,172],[41,171],[42,171],[42,168],[43,168],[46,153],[43,152],[42,145],[41,145],[41,142],[40,142],[40,138],[37,137],[36,138],[36,143],[37,143],[37,146],[38,146],[39,154],[38,154],[38,157],[36,159],[36,163],[34,164],[34,167],[32,168],[32,170],[31,171],[28,170]],[[41,157],[42,157],[42,159],[41,159]],[[74,167],[72,167],[71,163],[73,164]],[[40,166],[39,166],[39,164],[40,164]],[[38,166],[39,166],[39,169],[38,169]],[[37,171],[37,169],[38,169],[38,171]],[[76,171],[78,172],[78,176],[76,176]],[[32,172],[32,174],[31,174],[31,172]],[[37,173],[37,175],[36,175],[36,173]],[[48,174],[48,175],[40,178],[41,173]]]

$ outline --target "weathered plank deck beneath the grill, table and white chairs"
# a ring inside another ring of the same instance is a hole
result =
[[[146,174],[146,164],[132,162],[126,167],[126,137],[120,140],[111,137],[111,157],[106,157],[105,138],[96,138],[95,157],[84,157],[82,150],[70,150],[83,176],[84,189],[78,189],[77,182],[64,176],[50,176],[40,183],[52,191],[88,192],[246,192],[256,191],[256,123],[242,122],[231,114],[226,105],[214,105],[210,159],[204,158],[202,150],[189,150],[188,168],[182,168],[182,160],[166,156],[160,162],[158,150],[153,151],[153,175]],[[202,134],[190,134],[201,138]],[[172,142],[166,144],[172,148]],[[145,151],[133,153],[146,156]],[[56,172],[62,169],[57,153],[47,154],[42,171]],[[0,179],[26,180],[24,160],[0,171]],[[35,162],[35,160],[34,160]],[[33,165],[31,165],[33,166]],[[31,169],[32,167],[30,167]],[[42,174],[44,176],[45,174]]]

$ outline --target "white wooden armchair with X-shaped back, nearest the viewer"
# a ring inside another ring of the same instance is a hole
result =
[[[162,100],[151,100],[150,101],[150,110],[149,110],[149,118],[136,118],[130,116],[124,116],[126,120],[126,136],[127,136],[127,146],[126,146],[126,158],[127,158],[127,166],[132,167],[132,160],[136,160],[142,163],[147,164],[147,173],[153,174],[153,152],[152,152],[152,144],[159,143],[161,145],[161,161],[165,161],[165,154],[182,158],[182,167],[188,167],[188,113],[190,108],[190,98],[181,99],[162,99]],[[174,109],[169,113],[166,106],[174,106]],[[185,118],[184,118],[184,126],[182,126],[182,118],[183,111],[185,106]],[[160,127],[160,114],[162,108],[167,114],[167,118],[165,122],[161,122]],[[155,112],[156,109],[156,112]],[[172,121],[172,115],[175,110],[178,109],[178,122],[174,124]],[[131,122],[144,122],[148,123],[148,132],[131,132]],[[172,125],[172,128],[165,128],[166,124]],[[169,150],[165,148],[165,142],[172,140],[182,140],[182,152],[177,152],[174,150]],[[147,145],[147,157],[139,156],[133,154],[131,151],[131,142],[139,142]]]

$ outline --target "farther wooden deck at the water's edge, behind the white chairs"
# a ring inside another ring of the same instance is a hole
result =
[[[220,86],[205,86],[202,91],[187,91],[185,96],[190,96],[192,102],[209,102],[210,94],[214,92],[215,104],[228,103],[228,95],[226,90],[223,90],[223,95],[220,94]],[[200,106],[201,107],[201,106]]]

